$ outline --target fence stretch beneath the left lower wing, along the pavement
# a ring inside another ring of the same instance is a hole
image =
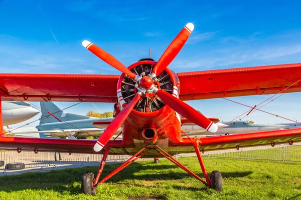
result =
[[[102,154],[86,154],[86,153],[54,153],[54,152],[38,152],[16,150],[0,151],[0,170],[13,170],[23,168],[39,168],[56,167],[57,165],[76,164],[88,165],[93,162],[99,162]],[[129,158],[128,155],[108,155],[106,160],[124,161]]]

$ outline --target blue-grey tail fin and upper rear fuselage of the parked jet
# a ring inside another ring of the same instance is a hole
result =
[[[54,102],[51,101],[41,101],[41,120],[40,124],[44,123],[53,123],[61,121],[72,121],[72,120],[79,120],[79,119],[88,119],[89,116],[79,115],[79,114],[72,114],[68,112],[62,111]],[[50,115],[50,112],[52,115]],[[48,116],[49,115],[49,116]]]

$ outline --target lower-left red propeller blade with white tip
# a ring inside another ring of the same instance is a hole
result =
[[[94,145],[95,151],[100,151],[104,145],[110,140],[114,135],[123,121],[126,119],[128,114],[131,112],[135,104],[138,102],[140,94],[136,94],[135,97],[117,114],[117,116],[112,120],[108,127],[104,130],[102,135],[99,137],[98,141]]]

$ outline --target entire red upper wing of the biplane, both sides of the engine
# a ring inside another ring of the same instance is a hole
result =
[[[301,63],[178,73],[180,99],[301,91]],[[116,102],[119,75],[0,74],[3,100]]]

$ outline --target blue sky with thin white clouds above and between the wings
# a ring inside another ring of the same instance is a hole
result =
[[[81,41],[92,41],[125,65],[148,57],[148,48],[158,60],[187,22],[195,29],[169,66],[176,72],[300,62],[300,6],[275,0],[0,0],[0,70],[120,74]],[[253,106],[268,97],[231,99]],[[301,121],[298,99],[298,93],[284,94],[262,109]],[[188,103],[224,120],[248,109],[224,99]],[[111,111],[112,104],[81,103],[67,111],[84,114],[89,109]],[[259,111],[244,119],[288,122]]]

